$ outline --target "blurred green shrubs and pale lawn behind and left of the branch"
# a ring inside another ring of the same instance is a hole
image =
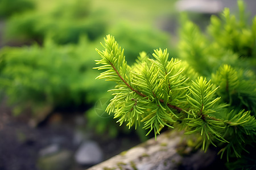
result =
[[[99,73],[92,69],[99,58],[95,49],[109,33],[130,64],[142,50],[169,48],[170,33],[157,22],[174,14],[175,1],[146,2],[1,1],[0,86],[13,113],[29,110],[38,124],[55,109],[94,107],[113,86],[95,80]],[[40,110],[48,113],[40,116]]]

